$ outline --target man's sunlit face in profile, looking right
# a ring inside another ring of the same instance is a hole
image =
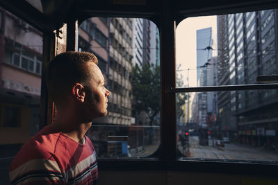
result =
[[[105,81],[99,67],[94,62],[88,62],[92,78],[86,88],[85,112],[92,118],[107,115],[108,96],[110,91],[104,87]]]

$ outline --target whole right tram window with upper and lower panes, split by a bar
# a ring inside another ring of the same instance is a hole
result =
[[[217,90],[277,75],[276,12],[181,21],[177,87]],[[177,93],[177,148],[183,157],[278,161],[277,96],[278,89]]]

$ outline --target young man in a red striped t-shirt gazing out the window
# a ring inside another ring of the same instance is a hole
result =
[[[54,123],[33,136],[10,165],[12,184],[97,184],[95,149],[85,133],[106,116],[110,91],[92,53],[69,51],[47,67]]]

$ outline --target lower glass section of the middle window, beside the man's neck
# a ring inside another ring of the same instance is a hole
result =
[[[94,125],[87,136],[98,157],[147,157],[158,148],[158,125]]]

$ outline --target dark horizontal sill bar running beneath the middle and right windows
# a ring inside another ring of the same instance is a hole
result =
[[[277,162],[180,157],[176,161],[147,159],[97,159],[100,171],[183,171],[277,177]]]

